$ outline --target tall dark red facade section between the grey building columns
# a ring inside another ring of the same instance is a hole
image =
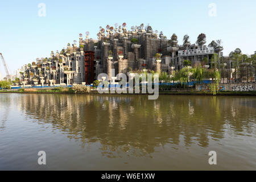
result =
[[[85,82],[86,85],[92,84],[94,81],[94,52],[85,51],[84,53],[85,65]]]

